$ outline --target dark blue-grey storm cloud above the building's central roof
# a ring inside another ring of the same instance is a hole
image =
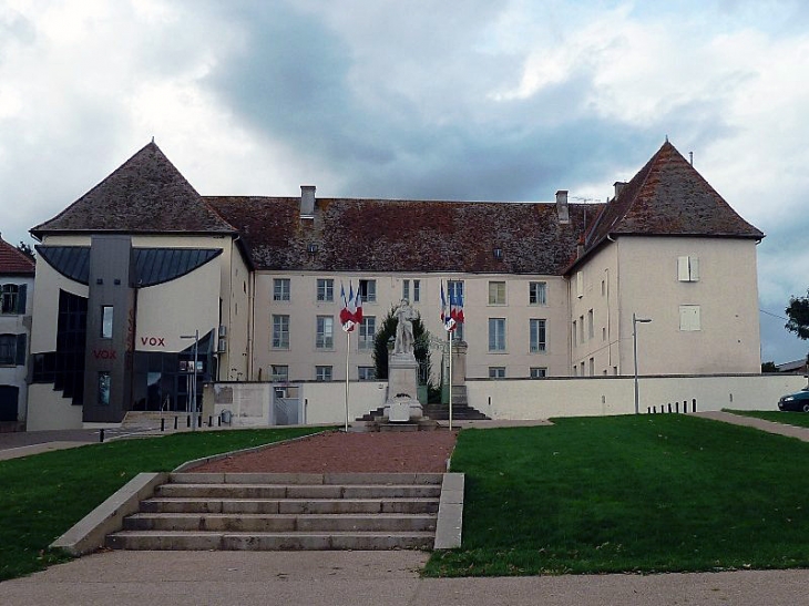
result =
[[[663,143],[664,132],[587,111],[594,84],[586,68],[528,99],[496,101],[484,96],[477,66],[460,74],[459,58],[447,49],[419,73],[398,69],[411,81],[376,74],[369,97],[355,82],[365,68],[316,16],[274,3],[228,18],[238,22],[242,44],[221,58],[206,85],[253,132],[339,174],[339,195],[550,199],[575,182],[628,178],[613,173],[629,158],[639,170]],[[480,60],[490,63],[487,73],[500,74],[489,76],[492,86],[519,78],[513,57]],[[502,69],[492,70],[498,61]],[[437,88],[451,99],[427,110],[419,93]]]

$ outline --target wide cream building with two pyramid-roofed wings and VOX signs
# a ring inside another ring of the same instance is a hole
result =
[[[756,243],[666,142],[607,204],[204,197],[150,143],[31,232],[29,427],[185,410],[199,380],[344,380],[340,288],[365,320],[349,378],[401,298],[444,338],[462,295],[468,377],[759,371]]]

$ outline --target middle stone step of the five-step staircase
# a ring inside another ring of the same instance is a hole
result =
[[[143,513],[436,513],[438,499],[150,499],[141,502]]]

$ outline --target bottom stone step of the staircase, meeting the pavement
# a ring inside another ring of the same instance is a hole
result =
[[[106,537],[113,549],[149,551],[379,551],[429,549],[434,532],[222,533],[123,531]]]

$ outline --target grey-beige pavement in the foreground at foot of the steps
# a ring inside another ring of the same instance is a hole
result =
[[[14,606],[768,606],[806,604],[809,571],[420,578],[422,552],[109,552],[0,584]]]

